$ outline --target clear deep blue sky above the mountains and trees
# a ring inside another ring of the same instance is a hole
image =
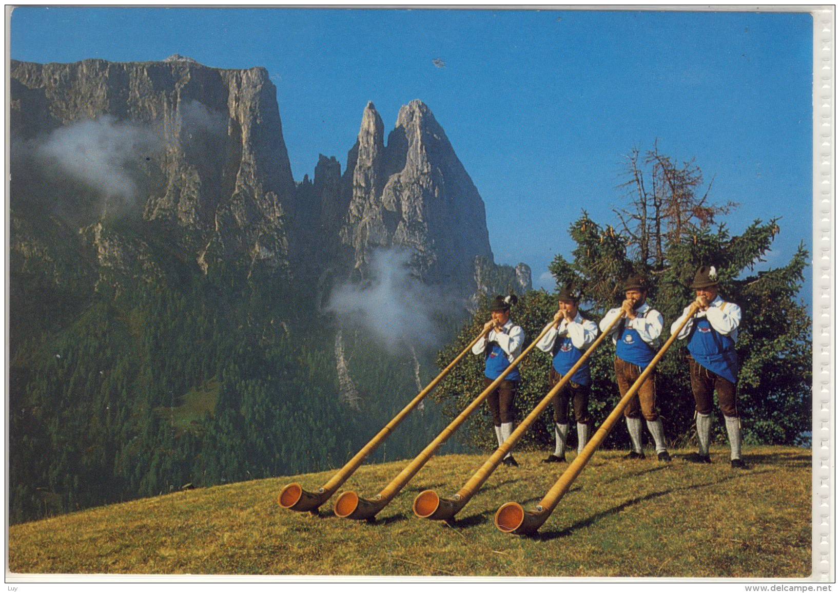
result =
[[[11,50],[265,66],[298,181],[318,153],[344,166],[366,102],[387,132],[422,99],[486,202],[496,261],[551,289],[570,221],[615,223],[623,156],[654,140],[741,204],[733,232],[783,217],[769,265],[812,249],[811,37],[806,13],[24,7]]]

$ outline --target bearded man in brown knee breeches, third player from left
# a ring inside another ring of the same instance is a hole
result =
[[[664,323],[662,314],[645,302],[648,298],[648,287],[642,276],[633,274],[627,278],[624,296],[622,306],[611,309],[601,319],[601,331],[604,331],[622,311],[627,315],[611,332],[612,343],[616,344],[615,369],[618,391],[622,397],[654,359],[659,348],[659,334],[662,333]],[[633,443],[633,450],[625,456],[627,459],[644,459],[640,416],[647,420],[648,430],[654,437],[659,461],[670,461],[671,456],[665,448],[662,419],[656,410],[655,372],[644,381],[637,394],[624,408],[627,432],[630,433],[630,440]]]

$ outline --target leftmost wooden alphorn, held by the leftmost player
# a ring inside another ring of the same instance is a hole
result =
[[[423,401],[425,396],[436,387],[438,383],[444,379],[446,375],[449,375],[449,371],[453,370],[455,365],[457,365],[460,359],[463,359],[470,349],[481,339],[484,338],[487,333],[490,332],[490,328],[485,329],[482,331],[477,338],[475,338],[470,344],[455,357],[455,359],[449,363],[449,365],[442,371],[440,374],[436,376],[431,383],[426,386],[423,391],[417,394],[412,401],[409,401],[407,406],[402,408],[402,411],[398,413],[391,422],[388,422],[385,428],[382,428],[379,433],[376,433],[374,438],[370,439],[370,442],[367,443],[359,453],[355,454],[353,459],[350,459],[347,464],[344,464],[344,467],[338,471],[335,475],[333,475],[330,480],[318,488],[316,492],[309,492],[303,490],[303,487],[300,484],[293,483],[286,485],[283,490],[280,491],[280,495],[277,496],[277,503],[282,506],[283,508],[287,508],[291,511],[301,511],[301,512],[315,512],[319,506],[323,505],[324,502],[329,500],[330,496],[333,496],[335,491],[339,490],[342,484],[353,474],[353,472],[359,469],[359,466],[365,461],[365,458],[370,455],[370,453],[376,449],[376,447],[384,441],[391,431],[396,428],[396,425],[402,422],[402,419],[408,416],[408,413],[411,412],[414,407],[417,406],[420,401]]]

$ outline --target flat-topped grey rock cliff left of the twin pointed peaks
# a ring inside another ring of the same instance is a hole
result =
[[[121,166],[136,170],[144,220],[180,229],[182,248],[204,270],[217,260],[286,267],[283,218],[294,181],[276,89],[264,68],[219,70],[181,56],[13,61],[11,81],[18,143],[38,144],[58,129],[103,117],[153,135],[155,150],[136,155],[136,166]]]

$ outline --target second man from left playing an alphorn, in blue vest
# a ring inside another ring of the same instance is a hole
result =
[[[537,348],[543,352],[550,352],[554,357],[549,371],[549,386],[554,387],[560,379],[568,373],[580,357],[598,336],[598,326],[594,321],[586,319],[578,312],[580,297],[573,294],[569,288],[560,291],[558,311],[549,326],[558,323],[557,328],[549,329],[543,336]],[[578,453],[583,450],[589,439],[589,392],[592,378],[589,362],[581,366],[569,383],[561,389],[552,400],[554,407],[554,453],[550,454],[543,463],[563,463],[566,460],[566,439],[569,437],[569,400],[575,411],[577,422]]]

